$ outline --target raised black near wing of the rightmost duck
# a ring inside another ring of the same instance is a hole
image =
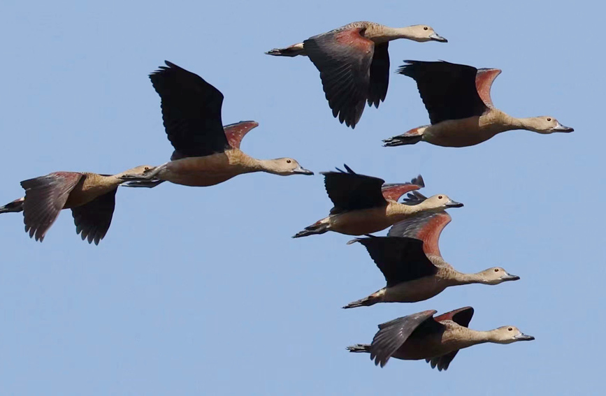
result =
[[[482,115],[488,108],[475,86],[477,68],[445,61],[405,61],[398,73],[417,82],[431,124]]]

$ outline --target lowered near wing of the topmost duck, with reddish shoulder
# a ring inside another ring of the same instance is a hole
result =
[[[355,128],[368,97],[370,64],[375,43],[352,27],[319,34],[303,41],[305,54],[320,72],[333,116]]]

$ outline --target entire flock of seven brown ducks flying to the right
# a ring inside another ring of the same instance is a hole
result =
[[[389,41],[447,43],[426,25],[390,28],[373,22],[354,22],[303,43],[266,52],[280,57],[306,56],[320,73],[326,100],[340,123],[355,128],[366,103],[378,108],[389,85]],[[513,129],[537,133],[572,132],[554,117],[515,118],[493,106],[490,89],[500,74],[496,68],[475,68],[446,61],[405,61],[398,73],[417,82],[431,124],[384,140],[387,147],[428,142],[447,147],[477,145]],[[291,158],[255,159],[240,150],[240,142],[254,121],[223,125],[221,92],[199,75],[169,61],[150,74],[160,96],[164,128],[173,145],[170,161],[137,166],[116,175],[54,172],[21,182],[22,198],[0,207],[0,213],[23,212],[25,231],[43,241],[63,209],[71,209],[76,233],[89,243],[105,237],[113,217],[118,186],[152,188],[163,182],[212,186],[244,173],[313,175]],[[362,244],[385,277],[386,286],[345,309],[380,302],[428,300],[450,286],[497,285],[516,281],[500,267],[475,274],[459,272],[442,258],[439,238],[451,221],[446,210],[462,207],[445,194],[426,198],[419,175],[407,183],[386,184],[379,177],[345,170],[324,172],[326,192],[333,203],[327,217],[305,227],[294,238],[329,231],[359,236],[348,244]],[[403,200],[400,201],[400,199]],[[390,228],[386,237],[370,235]],[[445,370],[460,349],[475,344],[534,339],[514,326],[489,331],[468,328],[472,307],[435,316],[422,311],[379,325],[370,344],[356,344],[351,352],[370,353],[375,365],[389,358],[426,360]]]

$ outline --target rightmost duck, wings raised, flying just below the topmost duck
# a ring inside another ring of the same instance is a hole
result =
[[[395,147],[429,142],[446,147],[467,147],[514,129],[537,133],[572,132],[554,117],[515,118],[494,107],[490,89],[501,73],[445,61],[406,61],[398,73],[417,82],[431,125],[419,126],[384,140]]]

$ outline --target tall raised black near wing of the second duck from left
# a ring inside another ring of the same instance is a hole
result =
[[[207,156],[229,149],[221,121],[223,94],[199,75],[165,61],[150,74],[161,98],[164,129],[175,151],[185,156]]]

